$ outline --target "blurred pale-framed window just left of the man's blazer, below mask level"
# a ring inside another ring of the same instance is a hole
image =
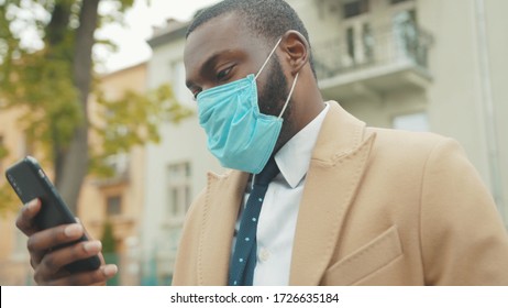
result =
[[[170,218],[179,219],[185,217],[192,198],[190,180],[190,163],[185,162],[168,167],[167,191],[169,196],[167,215]]]

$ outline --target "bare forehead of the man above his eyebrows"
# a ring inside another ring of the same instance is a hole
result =
[[[223,14],[201,24],[187,37],[184,51],[186,72],[199,69],[210,57],[230,51],[258,51],[259,37],[247,30],[242,18]]]

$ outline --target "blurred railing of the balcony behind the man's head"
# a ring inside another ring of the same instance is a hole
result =
[[[427,72],[431,43],[432,36],[416,25],[373,29],[354,40],[341,36],[313,45],[316,73],[319,80],[325,80],[397,64]]]

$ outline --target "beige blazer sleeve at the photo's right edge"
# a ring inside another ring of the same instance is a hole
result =
[[[459,143],[439,142],[426,163],[420,234],[427,285],[508,285],[508,234]]]

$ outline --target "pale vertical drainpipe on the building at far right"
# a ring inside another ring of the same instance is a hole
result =
[[[475,20],[477,35],[477,51],[479,63],[479,85],[482,87],[482,109],[487,141],[488,166],[490,169],[492,193],[497,208],[508,224],[506,217],[505,200],[503,196],[500,158],[498,148],[498,132],[496,128],[495,105],[490,80],[490,59],[488,54],[487,23],[485,16],[484,0],[475,0]]]

